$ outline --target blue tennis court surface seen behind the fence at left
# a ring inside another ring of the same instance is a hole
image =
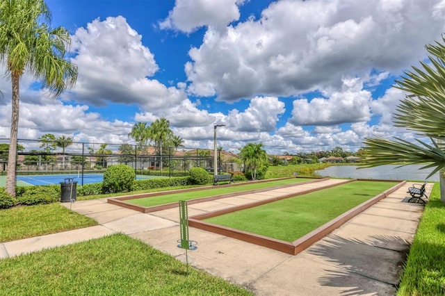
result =
[[[30,176],[17,176],[17,180],[28,183],[29,185],[51,185],[60,184],[65,182],[65,179],[70,178],[72,180],[66,181],[76,181],[78,185],[82,184],[82,175],[80,174],[47,174],[47,175],[30,175]],[[154,179],[154,178],[165,178],[165,176],[136,176],[136,179]],[[104,181],[103,174],[83,174],[83,185],[90,183],[99,183]]]

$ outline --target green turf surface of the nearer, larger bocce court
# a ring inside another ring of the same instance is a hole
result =
[[[204,221],[293,242],[396,184],[355,181]]]

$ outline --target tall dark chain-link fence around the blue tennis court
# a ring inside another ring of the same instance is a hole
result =
[[[5,186],[8,147],[9,139],[0,139],[0,187]],[[220,170],[238,170],[234,158],[220,156],[220,153],[218,163]],[[215,167],[211,149],[18,140],[16,184],[58,184],[65,178],[74,178],[79,185],[96,183],[102,181],[106,167],[118,164],[133,167],[136,179],[186,176],[191,167],[204,167],[213,172]]]

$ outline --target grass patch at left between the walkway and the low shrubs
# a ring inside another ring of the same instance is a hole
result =
[[[58,203],[0,210],[0,242],[97,225]]]

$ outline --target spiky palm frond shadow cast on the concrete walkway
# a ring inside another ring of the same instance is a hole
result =
[[[398,236],[329,236],[307,251],[335,265],[318,279],[322,286],[346,288],[341,295],[381,295],[396,290],[409,248],[409,242]]]

